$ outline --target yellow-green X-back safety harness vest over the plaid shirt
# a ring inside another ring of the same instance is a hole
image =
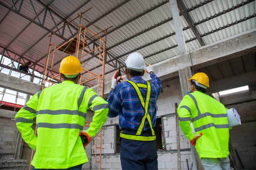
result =
[[[154,141],[156,139],[156,136],[154,134],[154,129],[152,126],[152,122],[151,122],[151,117],[148,113],[148,105],[149,105],[149,100],[150,100],[150,94],[151,94],[151,85],[149,82],[147,82],[147,84],[142,84],[142,83],[135,83],[132,81],[128,81],[129,83],[131,83],[131,85],[134,87],[135,91],[137,92],[137,95],[139,96],[140,99],[140,103],[143,106],[143,108],[145,109],[145,114],[142,118],[142,121],[140,123],[140,126],[136,132],[135,135],[130,135],[130,134],[125,134],[123,133],[123,130],[120,132],[120,137],[124,138],[124,139],[130,139],[130,140],[137,140],[137,141]],[[146,99],[144,101],[143,96],[140,92],[140,88],[147,88],[147,96]],[[145,120],[148,120],[148,124],[151,128],[151,132],[152,132],[152,136],[142,136],[142,130],[143,127],[145,125]]]

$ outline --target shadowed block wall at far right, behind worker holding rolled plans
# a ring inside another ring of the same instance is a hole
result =
[[[241,125],[230,130],[230,140],[238,169],[243,168],[235,149],[245,169],[254,170],[256,169],[256,100],[228,105],[227,108],[236,108],[242,121]]]

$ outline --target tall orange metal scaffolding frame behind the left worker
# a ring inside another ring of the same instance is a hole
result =
[[[91,8],[89,8],[87,11],[89,11],[90,9]],[[81,60],[82,58],[86,58],[90,55],[94,55],[95,51],[99,51],[99,54],[97,54],[97,56],[99,59],[99,64],[102,66],[102,75],[98,75],[96,73],[93,73],[92,71],[88,71],[82,68],[81,77],[79,79],[79,85],[90,87],[88,83],[96,79],[98,82],[97,94],[99,94],[99,88],[101,88],[101,96],[102,97],[104,96],[104,81],[105,81],[104,75],[105,75],[105,61],[106,61],[105,57],[106,57],[107,31],[112,26],[102,30],[98,26],[91,23],[91,25],[93,25],[95,28],[99,29],[100,31],[99,33],[93,32],[92,30],[90,30],[89,28],[81,24],[82,19],[88,21],[83,16],[87,11],[80,12],[76,18],[64,24],[61,28],[59,28],[55,32],[52,32],[52,34],[50,35],[49,48],[48,48],[47,59],[46,59],[44,74],[42,79],[42,90],[44,89],[44,84],[46,82],[51,83],[51,85],[62,82],[61,74],[56,74],[53,68],[56,65],[55,62],[58,61],[58,59],[62,56],[62,54],[66,56],[73,55],[76,58]],[[74,20],[78,18],[79,18],[78,32],[74,37],[72,37],[70,40],[67,40],[62,45],[56,45],[52,43],[52,40],[54,39],[56,32],[58,32],[60,29],[63,29],[65,26],[68,26],[68,24],[72,23]],[[99,36],[100,34],[103,34],[104,36],[102,37],[104,38]],[[93,48],[91,48],[88,45],[88,41],[95,40],[95,39],[98,45],[93,45]],[[72,42],[73,43],[76,42],[76,49],[74,54],[68,50],[68,47],[70,47],[70,44]],[[58,56],[58,54],[60,55]],[[58,58],[56,59],[57,56]],[[54,73],[52,73],[52,71]],[[90,122],[86,122],[85,126],[88,126],[88,123]],[[35,134],[36,134],[36,128],[35,128]],[[97,144],[98,140],[100,141],[99,146]],[[97,150],[99,151],[99,158],[97,158]],[[33,153],[34,151],[32,150],[31,161],[33,158]],[[99,163],[99,170],[101,170],[101,154],[102,154],[102,129],[99,131],[99,133],[96,134],[95,159],[96,159],[96,162]],[[32,166],[30,165],[29,169],[31,168]]]

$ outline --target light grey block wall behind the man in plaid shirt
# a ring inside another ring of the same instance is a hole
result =
[[[162,119],[164,128],[164,139],[166,150],[159,150],[158,153],[158,169],[174,170],[177,169],[177,142],[176,142],[176,124],[175,124],[175,102],[178,104],[182,99],[180,80],[173,79],[163,82],[161,94],[157,100],[157,118]],[[120,154],[116,153],[116,125],[118,118],[108,118],[102,128],[102,170],[121,170]],[[91,161],[83,167],[89,167],[90,170],[99,168],[99,164],[95,162],[95,139],[91,142]],[[119,147],[119,146],[118,146]],[[189,148],[189,141],[180,130],[180,147],[181,147],[181,168],[187,170],[186,159],[188,159],[189,167],[192,164],[192,157]],[[88,154],[87,154],[88,155]],[[99,156],[97,156],[99,158]],[[85,170],[85,168],[84,168]]]

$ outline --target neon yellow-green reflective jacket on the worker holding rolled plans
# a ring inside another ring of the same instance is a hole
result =
[[[192,140],[190,122],[196,134],[203,136],[196,140],[195,148],[200,158],[227,158],[229,155],[229,128],[227,109],[217,100],[195,91],[183,97],[178,107],[180,128]]]

